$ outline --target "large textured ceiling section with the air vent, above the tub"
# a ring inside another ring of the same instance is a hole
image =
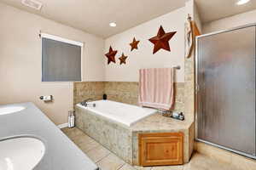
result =
[[[21,0],[0,0],[16,8],[39,14],[67,26],[73,26],[99,37],[119,32],[167,14],[185,5],[186,0],[38,0],[41,11],[28,8]],[[116,22],[116,27],[110,27]]]

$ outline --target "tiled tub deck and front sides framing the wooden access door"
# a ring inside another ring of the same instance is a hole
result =
[[[117,122],[98,116],[79,106],[75,106],[75,110],[77,127],[129,164],[138,165],[138,133],[183,132],[183,161],[189,161],[189,146],[191,145],[189,144],[191,142],[189,142],[191,139],[189,138],[189,128],[193,125],[192,122],[180,122],[160,114],[154,114],[131,127],[123,127]]]

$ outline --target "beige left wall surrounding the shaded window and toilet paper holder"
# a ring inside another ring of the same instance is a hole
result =
[[[0,105],[32,101],[55,124],[67,122],[73,108],[73,82],[41,82],[41,40],[39,31],[84,42],[83,79],[104,78],[102,38],[46,20],[0,3]],[[54,102],[44,104],[39,96],[52,94]]]

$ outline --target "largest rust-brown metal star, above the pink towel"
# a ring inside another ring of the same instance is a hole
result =
[[[176,32],[177,31],[166,33],[163,27],[160,26],[157,36],[151,37],[149,39],[150,42],[154,43],[153,54],[155,54],[161,48],[166,49],[167,51],[171,51],[171,48],[169,46],[169,40],[174,36],[174,34],[176,34]]]

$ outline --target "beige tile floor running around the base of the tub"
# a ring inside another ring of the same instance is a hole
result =
[[[236,167],[231,167],[229,164],[215,161],[198,153],[195,153],[189,163],[183,166],[131,166],[78,128],[62,128],[61,130],[63,133],[66,133],[67,137],[73,140],[92,161],[96,162],[102,170],[238,170]]]

